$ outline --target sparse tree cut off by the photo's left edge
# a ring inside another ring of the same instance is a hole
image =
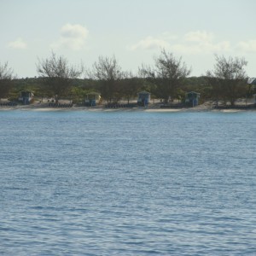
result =
[[[0,99],[9,95],[14,79],[14,70],[8,67],[8,62],[0,62]]]

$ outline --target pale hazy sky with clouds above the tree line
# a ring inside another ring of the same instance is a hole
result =
[[[255,0],[0,0],[0,63],[32,78],[52,51],[87,68],[114,55],[137,74],[166,49],[190,76],[224,55],[244,57],[248,77],[256,77],[255,12]]]

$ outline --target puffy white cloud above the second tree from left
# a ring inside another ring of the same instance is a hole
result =
[[[61,37],[50,46],[55,49],[61,47],[79,50],[83,49],[89,31],[85,26],[69,24],[61,27]]]

